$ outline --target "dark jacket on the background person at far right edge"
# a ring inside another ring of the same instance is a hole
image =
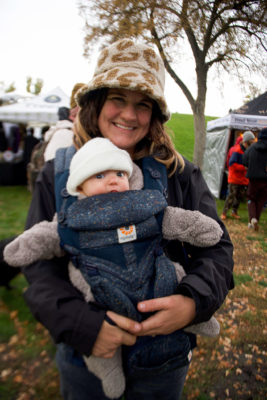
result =
[[[267,181],[267,137],[259,139],[245,151],[243,164],[248,168],[249,179]]]

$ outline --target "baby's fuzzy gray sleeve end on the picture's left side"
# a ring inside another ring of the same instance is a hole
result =
[[[24,267],[40,259],[62,257],[56,221],[42,221],[24,231],[4,249],[5,261],[13,267]]]

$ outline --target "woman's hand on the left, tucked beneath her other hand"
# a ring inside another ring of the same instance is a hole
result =
[[[107,315],[116,326],[104,321],[92,349],[94,356],[103,358],[113,357],[117,348],[123,344],[126,346],[134,345],[136,333],[141,330],[141,325],[129,318],[112,311],[108,311]]]

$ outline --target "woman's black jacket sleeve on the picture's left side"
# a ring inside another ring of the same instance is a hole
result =
[[[26,229],[53,219],[54,165],[45,164],[36,180]],[[50,332],[56,343],[64,342],[81,354],[89,355],[101,328],[105,312],[85,302],[68,277],[68,257],[31,264],[23,270],[29,283],[24,297],[35,318]]]

